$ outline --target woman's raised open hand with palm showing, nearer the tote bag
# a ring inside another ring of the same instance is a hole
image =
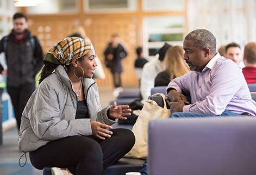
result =
[[[130,109],[129,105],[116,105],[116,102],[113,103],[112,107],[108,110],[108,117],[111,118],[118,118],[121,120],[126,120],[126,116],[130,116],[130,112],[132,109]]]

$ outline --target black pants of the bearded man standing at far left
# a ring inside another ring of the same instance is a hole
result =
[[[11,103],[14,107],[14,114],[17,121],[18,132],[21,127],[21,115],[26,107],[29,97],[35,90],[35,83],[24,84],[19,87],[7,86],[7,91],[11,97]]]

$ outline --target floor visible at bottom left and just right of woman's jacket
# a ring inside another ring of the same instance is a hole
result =
[[[109,102],[113,101],[113,93],[111,89],[100,89],[99,96],[101,98],[102,107],[106,107]],[[18,160],[22,153],[17,147],[18,132],[16,127],[11,128],[3,133],[3,145],[0,146],[0,175],[39,175],[40,170],[36,170],[29,161],[27,153],[27,163],[24,167],[20,167]],[[25,163],[25,157],[21,159],[21,165]]]

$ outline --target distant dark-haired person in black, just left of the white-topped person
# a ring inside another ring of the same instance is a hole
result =
[[[138,58],[134,62],[134,67],[135,67],[136,75],[140,79],[142,68],[148,62],[148,60],[146,58],[144,58],[144,53],[143,53],[142,47],[136,48],[136,53],[138,55]]]

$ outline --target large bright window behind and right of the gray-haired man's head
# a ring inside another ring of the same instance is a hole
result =
[[[217,48],[237,42],[241,48],[256,41],[256,0],[189,0],[189,31],[210,30],[216,37]]]

